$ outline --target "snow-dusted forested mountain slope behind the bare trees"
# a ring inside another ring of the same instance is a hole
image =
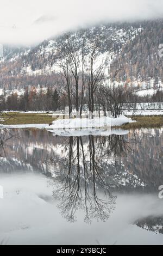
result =
[[[105,59],[106,72],[110,77],[119,70],[117,83],[150,89],[163,85],[162,60],[158,56],[161,29],[162,20],[111,23],[69,34],[74,45],[80,44],[83,38],[87,46],[92,42],[99,45],[96,63],[98,65]],[[147,40],[148,36],[152,38],[153,47]],[[31,48],[4,46],[4,57],[0,61],[0,87],[20,90],[27,86],[58,86],[58,50],[65,41],[66,35],[63,34]]]

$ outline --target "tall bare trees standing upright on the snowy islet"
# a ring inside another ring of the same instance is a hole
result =
[[[84,103],[90,112],[94,111],[95,93],[104,80],[104,59],[97,64],[99,54],[97,41],[65,34],[65,41],[59,48],[59,74],[62,80],[62,94],[67,95],[69,112],[73,107],[82,115]],[[85,100],[85,101],[84,101]],[[74,104],[73,104],[74,102]]]

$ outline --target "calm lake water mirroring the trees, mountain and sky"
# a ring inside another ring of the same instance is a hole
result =
[[[163,244],[163,130],[1,131],[0,242]]]

